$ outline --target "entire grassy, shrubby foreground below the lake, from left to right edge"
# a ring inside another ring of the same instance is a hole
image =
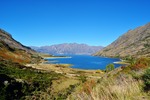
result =
[[[141,58],[130,63],[127,67],[120,67],[105,74],[70,69],[71,73],[67,73],[77,76],[67,77],[66,72],[58,74],[51,70],[38,70],[0,58],[0,98],[148,100],[150,93],[144,89],[142,76],[150,67],[150,60]],[[88,77],[94,74],[103,76],[96,79]]]

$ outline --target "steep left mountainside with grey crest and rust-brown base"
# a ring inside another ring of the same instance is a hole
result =
[[[33,63],[41,59],[36,51],[22,45],[2,29],[0,29],[0,58],[17,63]]]

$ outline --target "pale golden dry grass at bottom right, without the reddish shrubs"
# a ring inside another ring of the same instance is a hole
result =
[[[141,81],[123,80],[119,84],[114,80],[103,80],[92,91],[76,94],[77,100],[142,100]],[[88,87],[87,87],[88,88]],[[145,99],[148,100],[148,99]]]

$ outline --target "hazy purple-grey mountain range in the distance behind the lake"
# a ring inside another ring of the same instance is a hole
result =
[[[42,47],[31,47],[32,49],[49,54],[86,54],[91,55],[98,50],[102,49],[102,46],[89,46],[87,44],[77,44],[77,43],[64,43],[51,46]]]

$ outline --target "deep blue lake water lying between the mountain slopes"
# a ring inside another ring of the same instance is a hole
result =
[[[105,69],[105,67],[117,61],[118,58],[105,58],[89,55],[71,55],[70,58],[50,58],[47,59],[48,63],[53,64],[72,64],[72,68],[78,69]],[[114,64],[115,68],[121,66],[120,64]]]

